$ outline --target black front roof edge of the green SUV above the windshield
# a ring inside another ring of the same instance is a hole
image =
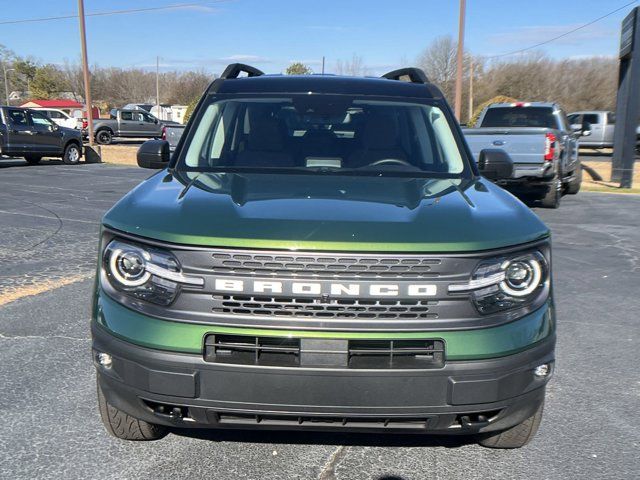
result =
[[[428,83],[377,77],[338,75],[260,75],[215,80],[209,93],[318,93],[440,99],[440,90]]]

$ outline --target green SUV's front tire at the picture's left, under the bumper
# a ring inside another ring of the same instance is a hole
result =
[[[104,428],[111,435],[121,440],[137,441],[159,440],[167,435],[166,427],[139,420],[109,404],[104,398],[100,383],[97,387],[100,418]]]

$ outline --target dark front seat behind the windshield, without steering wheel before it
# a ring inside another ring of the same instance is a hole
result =
[[[276,119],[250,116],[250,128],[244,150],[238,152],[238,167],[292,167],[293,156],[284,150],[284,132]]]

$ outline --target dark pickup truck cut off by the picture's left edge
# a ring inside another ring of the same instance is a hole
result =
[[[0,155],[23,157],[29,165],[42,157],[75,164],[82,158],[82,134],[54,123],[44,112],[0,107]]]

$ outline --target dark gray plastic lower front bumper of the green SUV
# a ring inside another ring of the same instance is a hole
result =
[[[471,434],[531,416],[553,364],[555,334],[519,353],[447,361],[431,370],[350,370],[207,362],[202,353],[150,349],[92,323],[107,401],[148,422],[174,427],[308,428]]]

